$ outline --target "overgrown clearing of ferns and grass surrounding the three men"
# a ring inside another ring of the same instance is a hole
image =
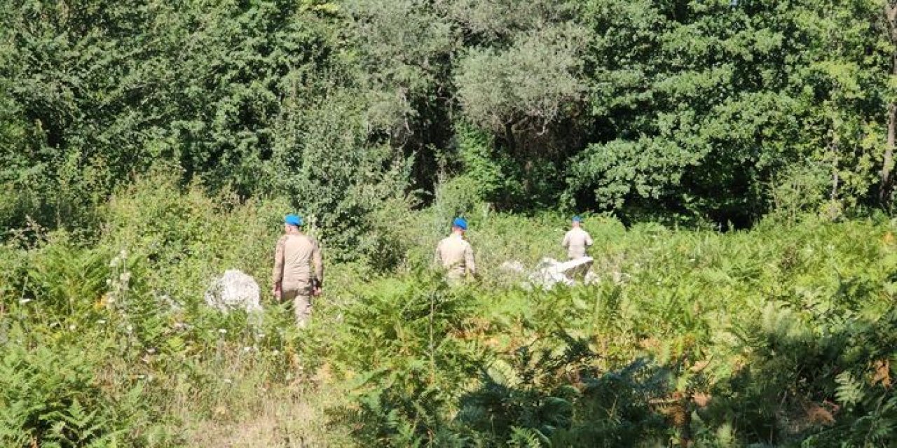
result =
[[[4,446],[890,446],[897,224],[750,231],[589,216],[597,284],[522,288],[566,218],[469,216],[482,278],[429,267],[438,209],[396,216],[403,257],[331,263],[309,329],[203,305],[225,269],[270,290],[283,204],[173,185],[100,231],[0,248]]]

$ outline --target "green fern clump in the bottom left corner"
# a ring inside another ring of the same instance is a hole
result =
[[[84,352],[72,340],[54,344],[15,325],[0,356],[0,443],[4,446],[122,444],[135,419],[147,418],[137,386],[111,397],[97,382],[107,340]],[[85,355],[86,354],[86,355]],[[149,418],[147,418],[149,419]]]

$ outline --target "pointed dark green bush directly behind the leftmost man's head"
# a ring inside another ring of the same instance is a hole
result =
[[[272,176],[293,209],[318,224],[332,259],[355,260],[370,214],[405,197],[409,163],[387,145],[366,144],[358,92],[331,93],[303,116],[301,138],[275,153]]]

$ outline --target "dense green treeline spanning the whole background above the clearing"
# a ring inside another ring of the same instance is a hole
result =
[[[286,199],[341,257],[380,250],[379,204],[454,177],[499,210],[626,220],[890,207],[894,19],[884,0],[4,2],[0,225],[91,226],[155,166]]]

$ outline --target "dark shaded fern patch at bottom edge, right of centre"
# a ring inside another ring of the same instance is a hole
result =
[[[636,446],[658,441],[669,371],[640,358],[602,372],[588,341],[557,332],[483,368],[482,385],[460,399],[455,424],[477,444]]]

